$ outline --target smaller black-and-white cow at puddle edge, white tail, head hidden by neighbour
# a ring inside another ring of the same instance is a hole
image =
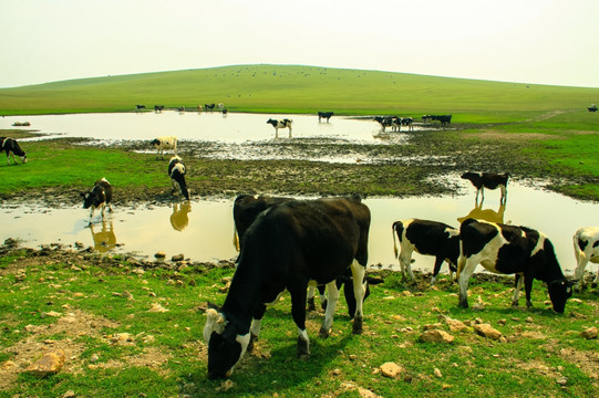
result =
[[[393,250],[395,258],[400,260],[403,277],[407,274],[415,282],[412,273],[412,252],[435,256],[435,266],[431,284],[434,285],[436,275],[441,270],[443,261],[450,264],[450,273],[453,280],[453,273],[457,270],[457,258],[459,256],[459,231],[443,222],[409,219],[393,222]],[[401,252],[397,256],[397,245],[395,234],[400,240]]]

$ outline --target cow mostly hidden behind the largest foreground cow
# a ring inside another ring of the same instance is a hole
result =
[[[256,221],[258,216],[280,203],[295,200],[292,198],[285,197],[269,197],[269,196],[254,196],[254,195],[238,195],[235,198],[233,205],[233,220],[234,220],[234,237],[233,243],[237,251],[241,251],[242,238],[246,234],[248,228]],[[349,270],[348,270],[349,271]],[[349,277],[348,277],[349,276]],[[344,285],[343,293],[345,295],[345,302],[348,303],[348,313],[350,317],[353,317],[355,312],[355,298],[353,294],[353,284],[347,283],[351,281],[351,272],[345,274],[343,277],[338,279],[337,287],[341,289],[341,285]],[[324,286],[317,286],[320,292],[320,297],[322,300],[322,307],[327,308],[327,300],[324,297]],[[366,293],[364,300],[370,295],[370,286],[366,285]],[[309,286],[308,289],[308,310],[314,311],[314,286]]]

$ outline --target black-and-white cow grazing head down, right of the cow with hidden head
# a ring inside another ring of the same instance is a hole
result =
[[[457,280],[459,306],[468,307],[468,281],[476,265],[498,274],[516,274],[512,304],[518,305],[523,280],[526,305],[533,306],[530,292],[535,279],[547,283],[554,311],[564,313],[572,295],[572,284],[564,276],[554,244],[541,232],[526,227],[506,226],[467,219],[459,227],[459,259]]]

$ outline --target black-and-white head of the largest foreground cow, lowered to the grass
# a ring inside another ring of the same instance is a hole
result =
[[[208,344],[208,378],[229,377],[246,353],[249,337],[249,332],[238,335],[225,314],[210,305],[204,326],[204,339]]]

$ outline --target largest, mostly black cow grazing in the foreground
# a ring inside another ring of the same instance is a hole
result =
[[[353,333],[361,334],[369,228],[370,210],[358,197],[292,200],[260,213],[246,231],[223,307],[210,305],[206,311],[208,378],[231,374],[250,339],[259,335],[265,304],[285,290],[291,294],[299,331],[298,357],[308,357],[308,284],[327,284],[329,305],[320,329],[327,337],[339,297],[335,279],[349,268],[357,302]]]

